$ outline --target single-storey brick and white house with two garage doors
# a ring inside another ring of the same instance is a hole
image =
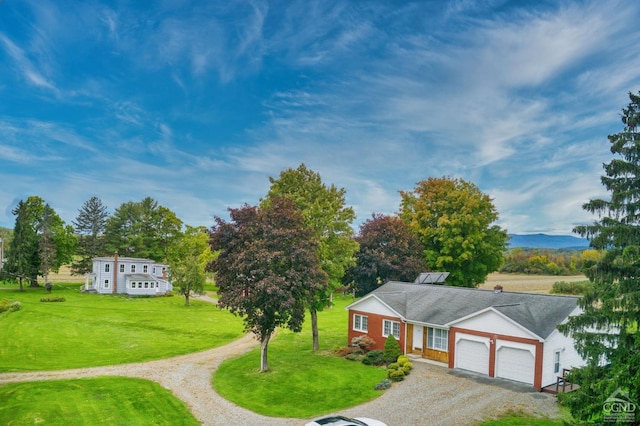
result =
[[[383,349],[393,334],[405,354],[537,390],[585,365],[556,328],[581,312],[577,297],[424,282],[391,281],[347,306],[349,342],[367,335]]]

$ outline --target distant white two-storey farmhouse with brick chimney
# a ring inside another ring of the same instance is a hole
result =
[[[167,279],[168,266],[135,257],[96,257],[93,272],[85,275],[84,291],[131,296],[163,295],[173,286]]]

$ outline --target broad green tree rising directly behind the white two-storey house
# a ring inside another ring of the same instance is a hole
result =
[[[129,201],[107,220],[106,248],[125,256],[162,262],[169,246],[181,237],[182,221],[153,198]]]

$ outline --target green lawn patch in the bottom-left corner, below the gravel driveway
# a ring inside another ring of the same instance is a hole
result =
[[[0,387],[3,425],[198,425],[185,404],[159,384],[99,377]]]

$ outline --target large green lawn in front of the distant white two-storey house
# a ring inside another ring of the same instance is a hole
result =
[[[64,297],[64,302],[40,302]],[[0,287],[22,309],[0,314],[0,372],[122,364],[193,353],[233,341],[242,320],[214,304],[184,298],[81,293],[78,285]]]

